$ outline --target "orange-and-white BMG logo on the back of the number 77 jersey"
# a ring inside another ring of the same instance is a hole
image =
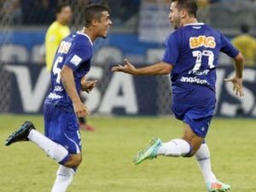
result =
[[[215,48],[216,42],[215,38],[213,37],[206,37],[206,36],[198,36],[189,38],[189,46],[191,49],[199,48],[201,46],[207,48]]]

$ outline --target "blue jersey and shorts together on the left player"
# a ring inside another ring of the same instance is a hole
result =
[[[79,154],[82,146],[73,103],[61,83],[61,68],[66,65],[73,70],[79,93],[81,79],[90,70],[91,57],[92,42],[87,35],[75,32],[64,38],[55,53],[49,95],[44,102],[45,136],[67,148],[70,154]]]

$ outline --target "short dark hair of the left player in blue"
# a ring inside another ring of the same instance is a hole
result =
[[[90,4],[84,9],[84,26],[88,27],[92,20],[101,21],[102,12],[108,11],[108,8],[102,4]]]

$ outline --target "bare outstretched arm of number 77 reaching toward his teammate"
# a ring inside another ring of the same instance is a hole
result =
[[[172,65],[163,61],[155,63],[148,67],[134,67],[130,61],[124,60],[124,65],[112,68],[112,72],[123,72],[132,75],[164,75],[172,72]]]

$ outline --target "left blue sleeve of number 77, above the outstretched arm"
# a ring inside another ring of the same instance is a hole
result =
[[[179,55],[179,46],[176,33],[172,33],[168,38],[166,38],[166,49],[163,61],[175,66],[177,58]]]

